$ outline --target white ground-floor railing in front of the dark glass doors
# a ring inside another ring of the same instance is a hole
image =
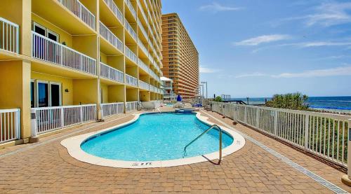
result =
[[[96,104],[32,108],[32,137],[96,120]]]

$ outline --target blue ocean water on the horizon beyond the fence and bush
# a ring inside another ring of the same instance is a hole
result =
[[[247,102],[246,98],[232,98]],[[249,104],[265,104],[265,99],[270,97],[253,97],[249,98]],[[351,111],[351,97],[309,97],[307,103],[312,109],[338,109]]]

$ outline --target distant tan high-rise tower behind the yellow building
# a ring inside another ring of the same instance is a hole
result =
[[[162,15],[162,72],[184,99],[197,95],[199,53],[177,13]]]

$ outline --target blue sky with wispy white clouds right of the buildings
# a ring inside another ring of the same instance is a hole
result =
[[[190,34],[208,96],[351,96],[351,1],[163,0],[162,13]]]

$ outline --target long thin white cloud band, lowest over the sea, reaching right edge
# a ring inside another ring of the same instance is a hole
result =
[[[260,77],[267,76],[271,78],[315,78],[315,77],[329,77],[329,76],[351,76],[351,66],[349,67],[335,67],[331,69],[314,69],[310,71],[303,71],[300,73],[282,73],[277,75],[253,73],[253,74],[242,74],[235,78],[245,77]]]

